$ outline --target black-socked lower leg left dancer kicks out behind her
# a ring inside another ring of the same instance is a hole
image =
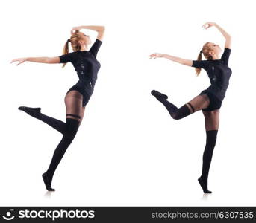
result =
[[[66,129],[66,123],[61,120],[57,120],[54,117],[50,117],[46,114],[42,114],[40,109],[34,109],[30,107],[20,106],[19,110],[25,111],[27,114],[31,115],[32,117],[37,118],[38,120],[43,121],[44,123],[48,124],[52,128],[56,129],[60,133],[64,133]]]

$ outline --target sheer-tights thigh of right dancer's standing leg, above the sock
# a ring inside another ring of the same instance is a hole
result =
[[[213,111],[202,111],[205,116],[205,130],[219,129],[219,109]]]

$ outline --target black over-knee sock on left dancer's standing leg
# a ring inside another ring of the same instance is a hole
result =
[[[72,140],[75,138],[76,132],[78,131],[79,121],[66,118],[66,131],[63,134],[63,138],[60,140],[60,143],[57,145],[57,148],[54,151],[54,154],[51,159],[51,164],[47,171],[43,174],[43,178],[46,184],[47,190],[54,190],[51,188],[51,180],[53,178],[54,172],[57,169],[58,164],[60,164],[63,155],[66,152],[66,149],[72,143]]]

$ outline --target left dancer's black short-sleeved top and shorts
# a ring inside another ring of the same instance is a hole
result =
[[[72,88],[69,88],[69,91],[76,90],[83,95],[83,107],[88,103],[93,94],[97,74],[101,67],[101,64],[96,59],[101,45],[102,41],[96,39],[89,51],[75,51],[59,56],[60,63],[72,62],[78,74],[78,82]]]

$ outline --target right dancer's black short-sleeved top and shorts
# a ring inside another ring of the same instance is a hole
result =
[[[210,105],[202,110],[212,111],[221,107],[232,74],[231,68],[228,67],[230,54],[231,49],[225,48],[221,59],[193,60],[192,67],[205,69],[210,78],[211,85],[200,93],[207,94]]]

